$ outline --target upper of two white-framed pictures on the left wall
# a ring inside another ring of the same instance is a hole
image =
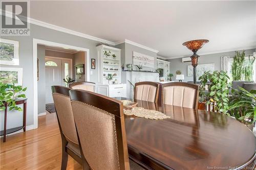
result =
[[[19,65],[19,42],[0,38],[0,65]]]

